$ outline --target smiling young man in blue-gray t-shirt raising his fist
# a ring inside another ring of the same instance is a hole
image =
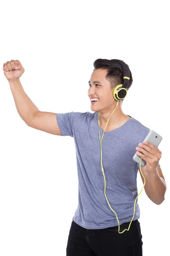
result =
[[[89,99],[96,99],[96,102],[91,102],[94,113],[39,111],[20,83],[19,78],[25,71],[20,61],[7,61],[3,70],[18,113],[27,125],[51,134],[74,137],[79,204],[71,223],[67,256],[142,256],[137,201],[133,218],[134,201],[138,195],[136,177],[139,164],[133,160],[136,151],[146,161],[141,168],[146,180],[144,189],[155,204],[164,201],[166,183],[159,164],[161,151],[151,143],[139,145],[150,129],[123,113],[122,101],[113,97],[113,89],[124,80],[119,62],[106,59],[94,62],[88,90]],[[127,90],[132,81],[130,72]],[[103,137],[101,144],[99,133]],[[105,181],[108,201],[104,194]],[[108,202],[118,216],[119,225]],[[122,232],[129,225],[130,229]]]

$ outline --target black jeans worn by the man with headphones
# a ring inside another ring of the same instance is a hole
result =
[[[130,221],[120,225],[128,229]],[[89,230],[71,223],[66,256],[142,256],[140,222],[132,221],[129,231],[118,226]]]

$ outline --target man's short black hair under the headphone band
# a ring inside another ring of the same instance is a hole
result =
[[[106,79],[111,83],[111,89],[116,87],[116,85],[118,85],[118,84],[124,83],[123,70],[122,70],[122,66],[119,64],[119,62],[114,61],[114,60],[107,60],[107,59],[99,58],[96,61],[94,61],[93,65],[94,65],[94,70],[95,69],[105,69],[108,71],[107,75],[106,75]],[[127,65],[127,67],[129,68],[128,65]],[[130,69],[129,69],[129,71],[130,71]],[[129,84],[127,86],[127,90],[132,85],[132,82],[133,82],[133,78],[132,78],[132,73],[130,71],[130,79],[129,79]]]

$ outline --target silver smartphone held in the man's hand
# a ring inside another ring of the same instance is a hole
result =
[[[155,131],[153,130],[150,130],[149,133],[147,134],[146,138],[144,139],[144,141],[148,141],[150,143],[152,143],[154,146],[158,147],[159,143],[161,142],[162,140],[162,137],[157,134]],[[142,143],[144,143],[144,141]],[[138,145],[137,145],[138,146]],[[137,147],[136,146],[136,147]],[[141,157],[139,157],[136,153],[134,154],[133,156],[133,160],[136,162],[136,163],[140,163],[140,160],[141,160]],[[145,166],[146,164],[146,161],[145,160],[141,160],[141,166]]]

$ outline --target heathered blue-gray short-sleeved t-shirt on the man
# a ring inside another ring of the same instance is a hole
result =
[[[130,116],[121,127],[105,131],[102,139],[102,165],[110,208],[104,194],[98,114],[73,111],[56,114],[62,136],[74,137],[79,189],[78,207],[73,220],[86,229],[118,226],[111,208],[116,212],[120,225],[131,221],[134,201],[138,195],[136,177],[139,171],[139,164],[133,160],[133,155],[136,146],[143,142],[150,130]],[[100,138],[103,132],[100,127]],[[137,198],[133,221],[139,218]]]

